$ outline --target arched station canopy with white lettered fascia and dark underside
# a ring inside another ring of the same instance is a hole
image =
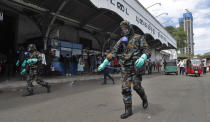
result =
[[[151,45],[176,48],[176,41],[137,0],[2,0],[22,13],[45,21],[56,16],[55,24],[74,25],[94,32],[120,34],[119,23],[129,20],[138,33],[148,35]],[[18,6],[18,7],[17,7]],[[44,24],[43,24],[44,25]]]

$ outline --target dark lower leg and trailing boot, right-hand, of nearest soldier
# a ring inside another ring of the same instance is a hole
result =
[[[141,99],[142,99],[142,101],[143,101],[142,107],[143,107],[144,109],[148,108],[147,95],[145,94],[143,87],[136,88],[136,87],[134,86],[134,90],[135,90],[136,93],[141,97]]]

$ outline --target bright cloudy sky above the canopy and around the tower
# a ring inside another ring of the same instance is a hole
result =
[[[157,17],[164,26],[178,27],[178,18],[188,9],[193,15],[195,54],[210,52],[210,0],[139,0],[145,7],[154,3],[161,3],[148,8],[148,11],[157,16],[167,12],[168,15]]]

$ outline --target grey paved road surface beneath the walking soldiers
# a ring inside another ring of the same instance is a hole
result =
[[[144,76],[149,108],[143,110],[133,92],[134,115],[120,119],[124,111],[121,85],[102,85],[102,79],[53,85],[53,92],[36,89],[0,93],[0,122],[210,122],[210,73],[202,77]],[[119,79],[118,79],[119,81]]]

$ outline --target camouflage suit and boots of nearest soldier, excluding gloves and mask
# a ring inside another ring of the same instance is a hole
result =
[[[123,21],[126,23],[126,21]],[[123,22],[121,24],[123,24]],[[128,23],[128,22],[127,22]],[[129,25],[130,26],[130,25]],[[119,48],[123,48],[122,55],[120,57],[121,64],[121,81],[122,81],[122,95],[125,104],[125,114],[130,109],[132,114],[132,98],[131,98],[131,84],[133,83],[133,89],[141,97],[143,101],[143,108],[147,108],[148,102],[144,89],[141,85],[143,67],[136,68],[135,61],[141,57],[142,54],[146,54],[150,57],[151,50],[148,47],[144,37],[138,34],[134,34],[132,28],[127,35],[128,43],[124,44],[119,40],[113,47],[111,53],[107,54],[107,59],[110,61],[118,53]],[[127,118],[129,115],[121,115],[121,118]]]

